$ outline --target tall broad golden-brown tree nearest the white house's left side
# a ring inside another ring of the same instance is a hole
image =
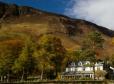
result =
[[[55,65],[55,76],[62,70],[62,62],[65,58],[65,48],[59,38],[52,35],[43,35],[39,39],[40,49],[48,53],[51,62]],[[60,66],[61,65],[61,66]]]

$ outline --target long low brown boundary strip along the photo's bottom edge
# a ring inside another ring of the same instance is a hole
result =
[[[110,84],[107,81],[97,80],[76,80],[76,81],[16,81],[16,82],[3,82],[0,84]],[[114,84],[114,83],[112,83]]]

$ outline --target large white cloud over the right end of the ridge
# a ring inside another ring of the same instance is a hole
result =
[[[65,14],[114,30],[114,0],[73,0]]]

